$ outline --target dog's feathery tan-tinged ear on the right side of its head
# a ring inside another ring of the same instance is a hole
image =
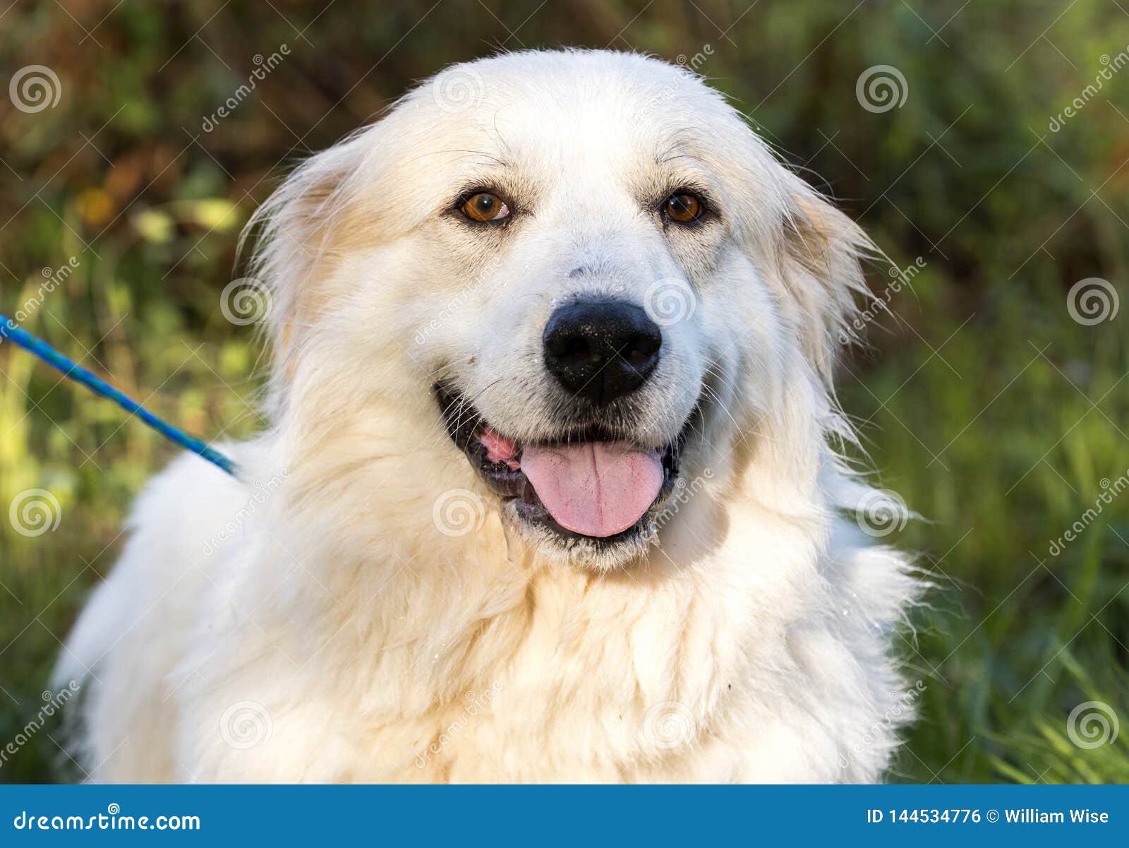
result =
[[[799,309],[804,351],[830,379],[842,349],[860,339],[859,301],[869,297],[861,262],[881,256],[863,229],[798,177],[791,177],[779,253]]]

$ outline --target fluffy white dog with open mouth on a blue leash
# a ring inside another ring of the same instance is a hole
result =
[[[840,512],[830,379],[872,245],[721,96],[455,65],[256,220],[272,423],[141,496],[58,672],[93,779],[882,776],[920,584]]]

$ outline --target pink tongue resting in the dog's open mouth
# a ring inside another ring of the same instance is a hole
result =
[[[586,536],[632,526],[663,488],[658,451],[628,442],[528,445],[522,471],[557,523]]]

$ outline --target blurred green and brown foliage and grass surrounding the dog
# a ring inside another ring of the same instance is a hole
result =
[[[1129,780],[1129,727],[1079,745],[1069,718],[1097,701],[1129,722],[1129,497],[1052,552],[1129,469],[1129,315],[1068,309],[1085,278],[1126,295],[1113,0],[17,0],[0,82],[44,65],[59,84],[36,112],[0,93],[0,311],[56,280],[24,326],[193,434],[252,434],[260,349],[218,304],[256,203],[445,64],[558,45],[701,54],[787,161],[916,266],[840,382],[882,484],[927,518],[887,539],[936,583],[901,641],[924,691],[893,779]],[[903,77],[900,105],[863,107],[874,65]],[[893,279],[875,269],[874,290]],[[37,536],[0,521],[0,748],[23,740],[0,781],[51,780],[56,724],[28,722],[174,451],[10,343],[0,371],[0,507],[40,488],[61,510]]]

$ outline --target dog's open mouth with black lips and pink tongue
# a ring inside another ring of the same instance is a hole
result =
[[[647,533],[680,473],[693,414],[677,437],[648,446],[599,423],[564,438],[520,443],[497,431],[456,391],[435,387],[455,445],[516,516],[566,540],[616,543]]]

